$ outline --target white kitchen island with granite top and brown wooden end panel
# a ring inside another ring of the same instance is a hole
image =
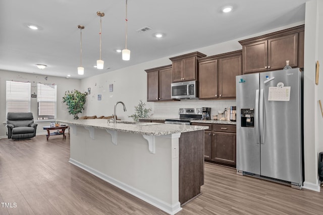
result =
[[[200,194],[205,126],[60,120],[70,126],[70,160],[170,213]]]

